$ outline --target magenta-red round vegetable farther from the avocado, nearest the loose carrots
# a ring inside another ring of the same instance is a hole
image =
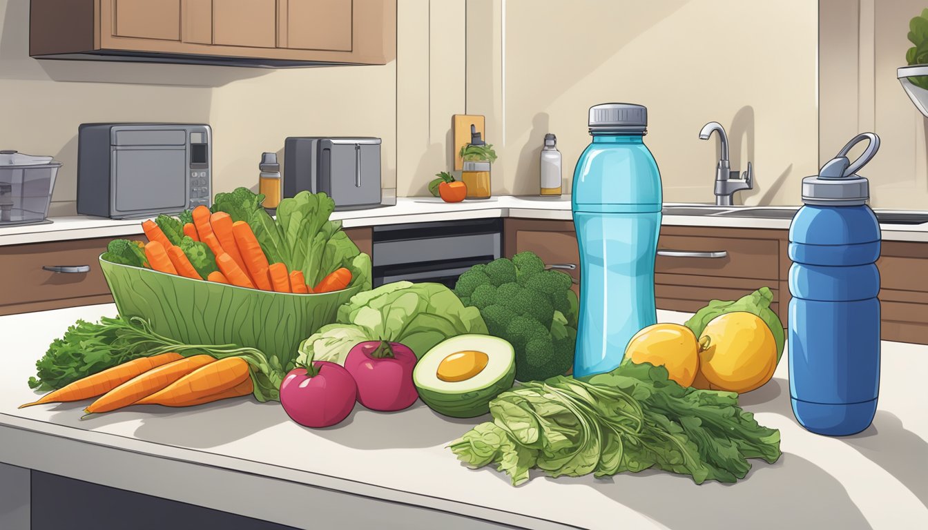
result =
[[[280,405],[291,420],[306,427],[339,423],[351,413],[355,399],[357,385],[348,370],[326,361],[310,359],[280,383]]]

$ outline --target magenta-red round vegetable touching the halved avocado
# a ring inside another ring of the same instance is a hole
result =
[[[401,343],[357,343],[345,358],[345,369],[357,383],[357,401],[372,410],[403,410],[419,393],[412,381],[416,354]]]

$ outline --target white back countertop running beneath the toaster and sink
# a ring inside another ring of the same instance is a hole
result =
[[[569,195],[560,198],[499,196],[488,200],[465,200],[449,204],[433,197],[402,197],[395,206],[333,213],[346,228],[354,226],[426,223],[487,217],[520,217],[570,221]],[[671,205],[671,203],[667,203]],[[104,217],[76,215],[52,217],[45,225],[0,227],[0,246],[66,239],[89,239],[136,236],[142,233],[141,221],[114,220]],[[790,219],[745,217],[715,217],[707,215],[664,215],[667,226],[724,226],[729,228],[771,228],[785,230]],[[881,225],[883,239],[896,241],[928,241],[928,223],[922,225]]]

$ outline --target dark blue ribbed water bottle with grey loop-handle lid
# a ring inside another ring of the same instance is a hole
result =
[[[850,149],[870,145],[856,162]],[[880,387],[880,224],[857,174],[880,138],[864,133],[803,179],[806,203],[790,226],[789,359],[793,414],[813,433],[870,426]]]

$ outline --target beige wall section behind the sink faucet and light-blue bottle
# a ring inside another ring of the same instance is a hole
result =
[[[548,132],[572,176],[586,110],[608,101],[648,107],[667,201],[714,200],[717,141],[698,138],[710,121],[733,168],[754,162],[745,203],[798,203],[818,167],[815,2],[470,0],[467,31],[482,50],[468,56],[467,110],[487,115],[497,193],[537,193]]]

